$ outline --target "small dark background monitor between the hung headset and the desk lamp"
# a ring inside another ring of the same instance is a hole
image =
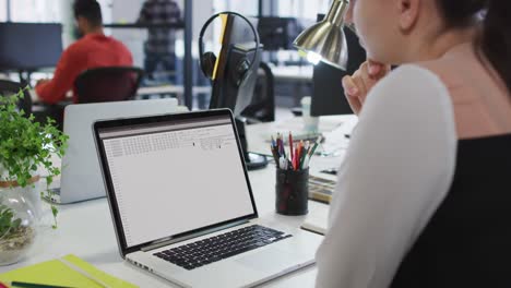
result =
[[[290,50],[300,31],[295,17],[259,17],[258,33],[265,51]]]

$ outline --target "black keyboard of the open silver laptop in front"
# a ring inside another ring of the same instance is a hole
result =
[[[252,225],[153,255],[190,271],[289,237],[292,235]]]

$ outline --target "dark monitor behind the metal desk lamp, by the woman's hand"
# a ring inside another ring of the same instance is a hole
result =
[[[318,15],[321,21],[324,14]],[[319,62],[312,74],[312,116],[353,113],[348,101],[344,97],[342,79],[352,75],[366,61],[366,50],[360,46],[358,37],[349,28],[344,27],[348,49],[347,70],[342,71],[332,65]]]

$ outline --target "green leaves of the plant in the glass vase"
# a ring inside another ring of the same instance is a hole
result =
[[[48,171],[47,192],[54,177],[60,175],[60,167],[55,167],[51,157],[62,157],[68,135],[55,127],[55,121],[47,119],[45,124],[35,122],[33,115],[25,117],[19,111],[16,103],[23,97],[23,91],[16,95],[0,96],[0,181],[17,181],[20,187],[32,184],[31,178],[38,167]],[[5,170],[2,176],[1,169]],[[3,178],[2,178],[3,177]],[[57,227],[57,208],[51,205]],[[21,224],[12,220],[12,211],[0,205],[0,235]],[[7,229],[7,230],[2,230]]]

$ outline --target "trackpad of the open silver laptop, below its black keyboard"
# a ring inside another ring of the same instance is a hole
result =
[[[304,260],[299,255],[286,253],[278,249],[266,249],[259,253],[253,253],[236,261],[252,269],[261,272],[280,272],[292,266],[301,264]]]

